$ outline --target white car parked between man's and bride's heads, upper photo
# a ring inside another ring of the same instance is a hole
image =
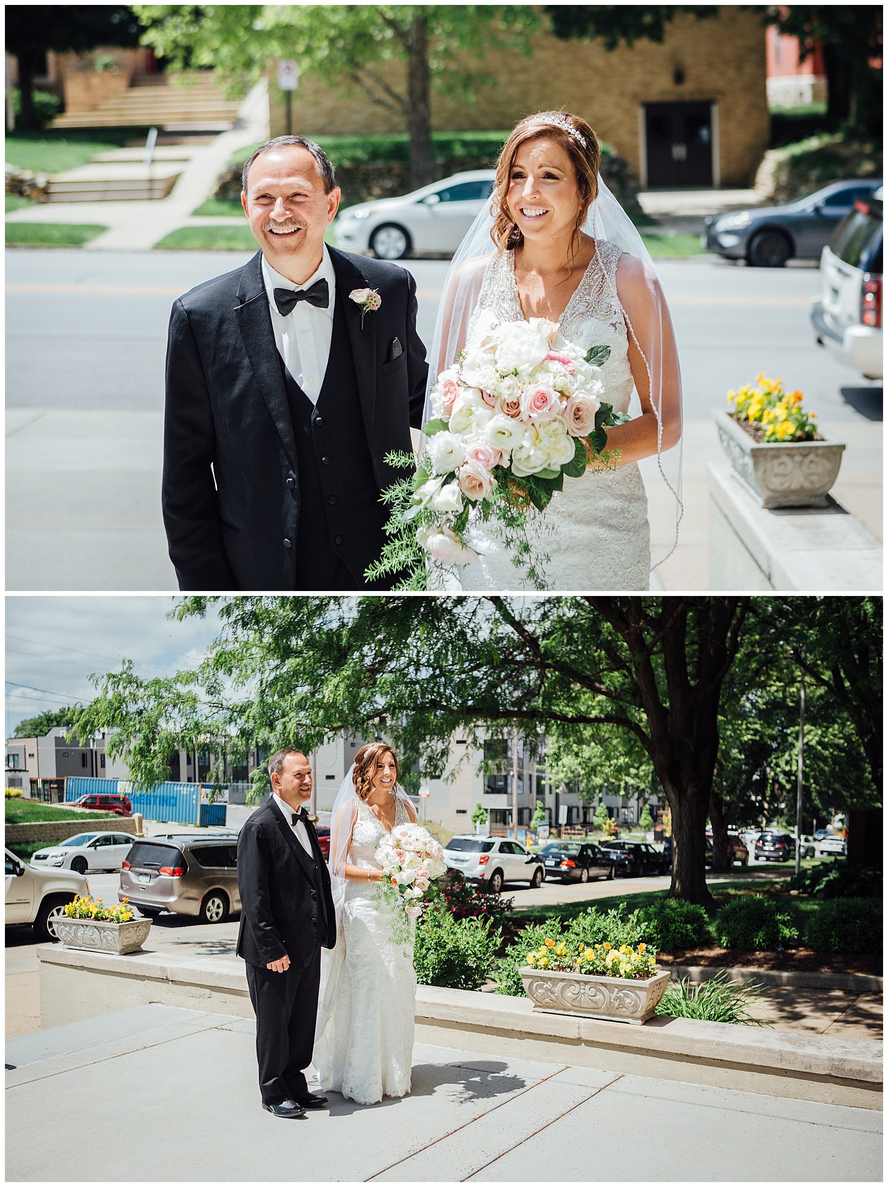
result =
[[[473,169],[400,198],[347,207],[333,222],[337,247],[402,260],[411,252],[453,254],[493,189],[496,171]]]

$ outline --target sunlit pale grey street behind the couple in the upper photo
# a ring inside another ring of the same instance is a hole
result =
[[[174,298],[242,266],[241,253],[8,250],[7,589],[171,590],[160,519],[164,360]],[[446,261],[415,260],[420,336],[433,337]],[[713,412],[759,372],[805,393],[848,450],[836,496],[881,538],[881,386],[813,342],[812,267],[754,269],[710,256],[658,264],[684,379],[685,518],[663,589],[708,588],[705,465]],[[649,464],[650,463],[650,464]],[[643,464],[654,551],[675,504]],[[665,546],[664,546],[665,545]]]

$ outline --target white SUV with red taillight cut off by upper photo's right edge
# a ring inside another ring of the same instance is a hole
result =
[[[867,379],[882,377],[882,195],[855,202],[836,228],[811,303],[818,344]]]

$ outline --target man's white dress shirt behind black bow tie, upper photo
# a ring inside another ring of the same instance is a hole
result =
[[[262,256],[262,279],[268,293],[268,304],[271,310],[271,329],[277,353],[285,362],[287,370],[299,383],[305,394],[312,401],[318,402],[324,375],[330,361],[330,343],[333,339],[333,301],[336,299],[336,272],[333,261],[330,258],[327,245],[324,245],[324,255],[320,267],[311,275],[305,284],[296,285],[287,280],[280,272],[275,272],[271,265]],[[277,311],[274,300],[275,288],[311,288],[317,280],[326,280],[330,291],[330,304],[326,309],[318,309],[307,300],[301,300],[290,313],[282,317]]]

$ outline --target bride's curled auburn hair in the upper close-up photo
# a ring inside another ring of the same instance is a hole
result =
[[[515,125],[497,159],[497,178],[493,183],[496,218],[491,237],[500,252],[506,248],[520,247],[524,242],[524,235],[509,212],[506,203],[515,155],[518,148],[528,144],[529,140],[542,140],[543,138],[557,140],[574,166],[576,186],[580,191],[574,228],[575,243],[579,242],[580,228],[586,222],[589,207],[598,197],[601,148],[599,138],[586,120],[581,115],[570,115],[567,112],[537,112],[536,115],[528,115]]]

